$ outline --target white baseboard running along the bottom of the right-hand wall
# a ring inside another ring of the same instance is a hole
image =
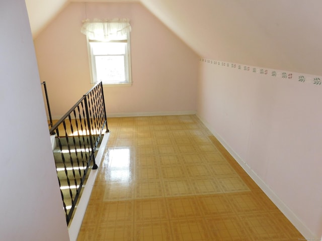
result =
[[[198,118],[208,128],[208,130],[217,138],[221,145],[237,161],[237,163],[247,172],[247,174],[256,182],[256,184],[265,192],[278,209],[287,217],[287,219],[297,228],[297,230],[306,238],[306,240],[320,240],[305,224],[294,214],[294,212],[274,193],[274,191],[252,170],[252,168],[241,159],[237,153],[218,135],[204,119],[198,114]],[[322,241],[322,238],[321,238]]]

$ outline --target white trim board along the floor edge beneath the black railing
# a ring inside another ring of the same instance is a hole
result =
[[[99,166],[99,168],[100,168],[100,164],[101,164],[101,161],[103,158],[104,150],[105,150],[105,147],[106,147],[107,142],[109,140],[109,137],[110,137],[110,133],[104,134],[99,151],[98,151],[96,158],[95,158],[96,164]],[[68,228],[70,241],[76,241],[77,236],[78,236],[78,232],[81,229],[83,218],[84,218],[84,215],[86,212],[87,205],[90,201],[90,197],[92,194],[92,190],[93,190],[93,186],[95,183],[95,179],[96,179],[98,170],[99,169],[91,170],[90,175],[87,179],[86,185],[84,187],[83,193],[82,193],[82,198],[79,199],[79,203],[78,203],[78,206],[75,210],[74,217],[72,218],[71,223]]]

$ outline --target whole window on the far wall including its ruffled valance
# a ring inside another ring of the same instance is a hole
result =
[[[131,84],[130,30],[128,20],[85,21],[92,83]]]

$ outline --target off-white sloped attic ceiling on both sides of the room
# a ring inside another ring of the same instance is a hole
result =
[[[70,2],[26,0],[33,36]],[[87,2],[140,2],[201,57],[322,75],[320,0]]]

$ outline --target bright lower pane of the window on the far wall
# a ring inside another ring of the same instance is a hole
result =
[[[98,81],[125,82],[124,56],[95,56]]]

